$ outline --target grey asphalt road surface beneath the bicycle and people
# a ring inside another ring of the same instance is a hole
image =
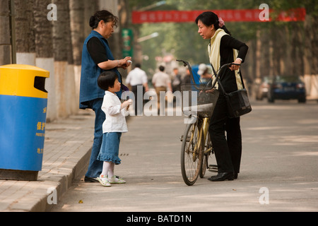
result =
[[[318,210],[318,104],[253,102],[241,118],[243,154],[238,179],[194,186],[180,172],[184,117],[131,117],[122,136],[126,184],[103,187],[78,180],[52,212],[211,212]],[[213,163],[213,162],[212,162]]]

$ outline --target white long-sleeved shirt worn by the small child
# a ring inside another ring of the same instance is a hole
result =
[[[117,95],[110,91],[105,91],[102,111],[105,112],[106,120],[102,124],[102,133],[128,132],[125,118],[126,108],[121,108],[122,102],[120,102]]]

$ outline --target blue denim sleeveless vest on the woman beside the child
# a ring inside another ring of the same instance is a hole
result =
[[[105,37],[102,37],[102,35],[100,35],[100,33],[96,32],[95,30],[90,32],[90,35],[88,35],[84,42],[82,52],[81,86],[79,95],[80,109],[88,108],[88,101],[103,98],[105,95],[105,90],[102,90],[98,87],[98,76],[100,76],[100,73],[102,73],[105,70],[100,69],[100,67],[97,64],[95,64],[92,57],[90,57],[90,54],[87,49],[87,42],[92,37],[98,37],[100,42],[102,42],[102,44],[105,46],[107,58],[109,60],[114,60],[112,51],[110,50],[110,46]],[[117,68],[110,69],[110,71],[116,72],[118,75],[119,82],[122,83],[122,75],[119,73]],[[120,97],[122,96],[122,90],[120,90],[116,94],[120,99]]]

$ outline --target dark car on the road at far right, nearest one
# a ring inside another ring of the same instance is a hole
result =
[[[293,100],[306,102],[305,83],[300,76],[275,76],[269,85],[269,102],[275,100]]]

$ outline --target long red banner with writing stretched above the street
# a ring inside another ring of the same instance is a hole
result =
[[[205,10],[206,11],[206,10]],[[274,11],[269,10],[269,17],[266,18],[266,11],[261,9],[234,9],[234,10],[212,10],[226,22],[269,22]],[[194,22],[199,14],[204,11],[133,11],[132,23],[189,23]],[[265,17],[264,17],[265,15]],[[305,8],[293,8],[278,13],[278,21],[304,21],[306,16]]]

